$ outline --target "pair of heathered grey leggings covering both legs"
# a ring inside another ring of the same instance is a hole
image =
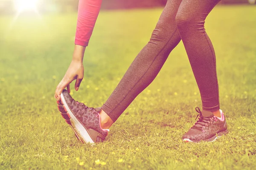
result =
[[[172,49],[183,41],[201,94],[203,110],[219,109],[215,53],[204,20],[220,0],[168,0],[151,39],[102,106],[115,122],[157,76]]]

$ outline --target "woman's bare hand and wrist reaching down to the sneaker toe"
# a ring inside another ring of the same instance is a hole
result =
[[[72,62],[70,63],[69,68],[67,69],[66,74],[64,75],[61,82],[58,84],[55,90],[55,99],[60,100],[61,92],[64,88],[67,87],[67,91],[70,93],[70,83],[76,79],[75,89],[78,91],[80,83],[84,78],[84,65],[83,65],[83,57],[84,57],[85,47],[76,45]]]

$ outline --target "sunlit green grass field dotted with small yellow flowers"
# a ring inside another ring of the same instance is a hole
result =
[[[158,9],[102,11],[71,94],[99,107],[148,42]],[[106,141],[81,144],[62,119],[55,87],[70,64],[76,14],[0,17],[0,169],[254,169],[256,6],[217,6],[206,22],[230,133],[183,143],[200,95],[183,44],[119,117]],[[163,83],[163,80],[165,83]],[[99,159],[99,161],[98,161]]]

